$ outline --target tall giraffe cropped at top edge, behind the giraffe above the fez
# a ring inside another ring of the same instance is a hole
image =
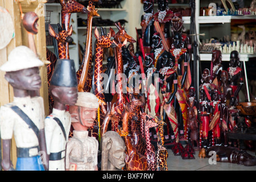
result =
[[[61,27],[63,30],[69,30],[69,23],[72,13],[87,13],[86,7],[75,0],[60,0],[61,5]],[[69,43],[65,42],[66,54],[69,59]]]

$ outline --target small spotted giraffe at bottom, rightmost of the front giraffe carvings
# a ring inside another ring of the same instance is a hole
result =
[[[167,158],[168,152],[166,147],[164,147],[164,135],[163,135],[163,125],[166,125],[166,122],[163,121],[163,117],[155,117],[155,122],[158,123],[158,150],[156,151],[156,171],[168,171]]]

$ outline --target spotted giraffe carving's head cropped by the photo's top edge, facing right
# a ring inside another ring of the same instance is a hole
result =
[[[63,13],[88,13],[86,7],[75,0],[60,0],[60,5]]]

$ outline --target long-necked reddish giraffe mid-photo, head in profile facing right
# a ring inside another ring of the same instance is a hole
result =
[[[116,102],[117,105],[115,106],[116,110],[119,109],[121,112],[123,111],[123,104],[125,104],[125,96],[122,92],[122,74],[123,74],[123,59],[122,59],[122,47],[125,46],[127,42],[135,43],[136,41],[127,34],[125,31],[125,27],[122,27],[121,24],[115,23],[115,26],[118,28],[117,34],[114,35],[113,42],[117,44],[115,47],[115,65],[117,71],[117,82],[118,82],[118,90],[113,97],[112,102]],[[111,28],[112,29],[112,28]],[[117,98],[115,98],[117,97]],[[121,118],[121,115],[119,115]]]

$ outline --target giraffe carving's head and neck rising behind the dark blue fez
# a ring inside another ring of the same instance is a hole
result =
[[[49,24],[49,34],[57,40],[59,59],[69,59],[69,48],[68,44],[66,43],[71,40],[70,36],[72,35],[73,28],[71,26],[69,30],[66,31],[61,28],[59,23],[57,25],[59,28],[59,33],[57,34],[52,28],[51,24]]]

